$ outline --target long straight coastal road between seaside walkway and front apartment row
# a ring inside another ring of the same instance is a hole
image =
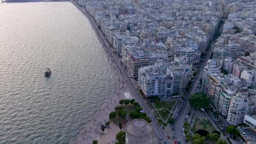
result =
[[[74,3],[74,2],[73,2]],[[153,127],[153,131],[154,131],[154,135],[157,136],[157,139],[160,140],[160,144],[163,144],[164,141],[167,141],[168,144],[171,144],[171,141],[169,141],[169,139],[167,138],[166,134],[164,133],[163,129],[161,128],[161,126],[159,125],[159,123],[157,122],[156,118],[154,117],[154,115],[152,114],[151,110],[149,109],[149,107],[147,107],[147,104],[145,103],[144,99],[142,99],[142,97],[140,96],[139,92],[137,91],[137,89],[135,88],[135,86],[133,85],[130,77],[125,73],[125,69],[122,67],[122,64],[120,63],[120,60],[117,58],[117,56],[115,56],[116,58],[113,57],[114,52],[112,47],[109,45],[109,42],[107,41],[106,37],[104,36],[103,32],[98,28],[98,25],[96,24],[96,21],[93,19],[93,17],[91,15],[89,15],[86,11],[83,11],[83,9],[81,7],[79,7],[76,3],[74,3],[75,6],[77,6],[77,8],[85,14],[85,16],[87,16],[87,18],[89,19],[89,21],[91,22],[91,26],[93,27],[93,29],[96,32],[96,35],[98,36],[102,47],[104,48],[109,60],[112,63],[112,66],[114,67],[117,76],[119,77],[120,81],[123,83],[126,83],[128,86],[128,89],[130,90],[129,93],[131,95],[131,97],[133,99],[135,99],[143,108],[144,112],[146,112],[148,115],[151,114],[151,124]]]

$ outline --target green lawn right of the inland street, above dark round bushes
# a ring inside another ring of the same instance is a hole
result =
[[[209,120],[205,121],[205,119],[203,119],[203,121],[201,121],[199,118],[197,118],[193,125],[192,131],[193,133],[196,133],[196,131],[199,129],[206,130],[209,133],[212,133],[216,130]]]

